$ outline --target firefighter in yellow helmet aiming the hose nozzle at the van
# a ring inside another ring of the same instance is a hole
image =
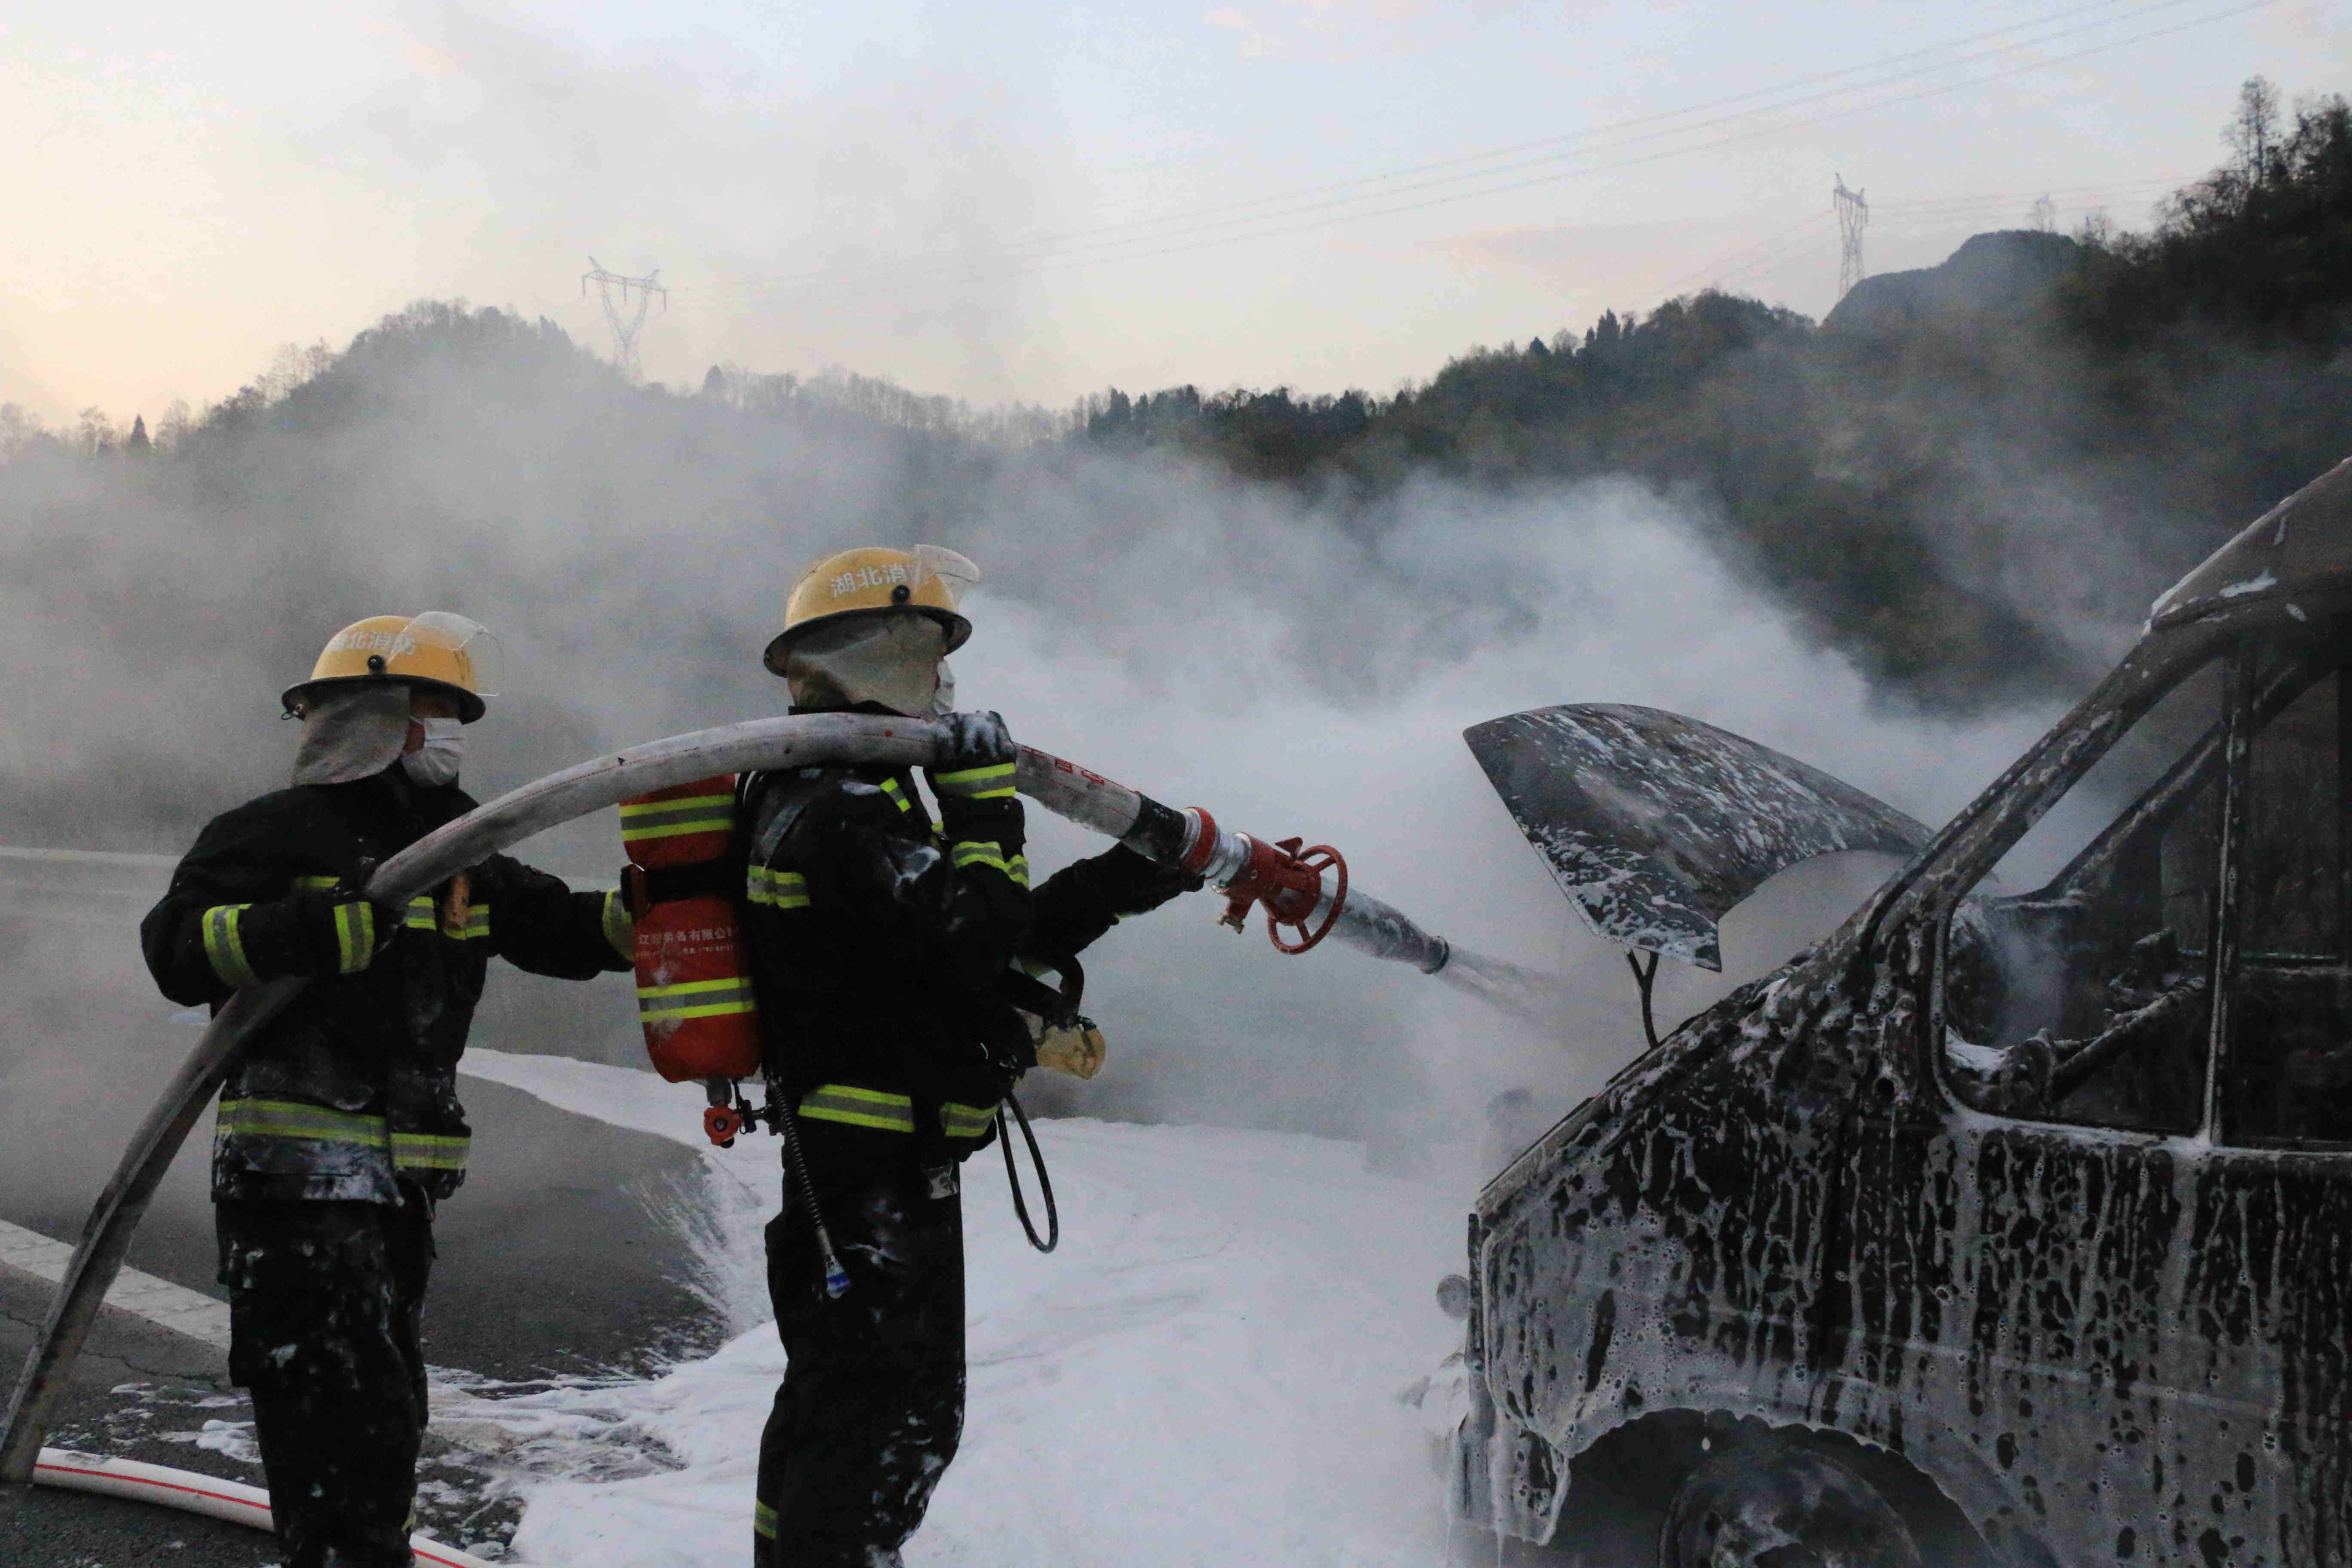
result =
[[[1037,1065],[1028,1018],[1082,1023],[1075,954],[1200,886],[1110,849],[1030,891],[1016,748],[995,712],[955,712],[948,675],[978,576],[931,545],[842,550],[800,574],[767,644],[793,712],[931,717],[950,743],[927,769],[936,820],[910,769],[743,785],[764,1072],[800,1166],[767,1227],[788,1368],[760,1441],[760,1568],[898,1563],[964,1420],[957,1164]]]

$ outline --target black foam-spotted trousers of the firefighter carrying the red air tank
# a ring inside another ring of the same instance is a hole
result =
[[[790,1363],[760,1434],[753,1563],[884,1568],[964,1429],[964,1211],[931,1197],[910,1138],[802,1128],[849,1291],[826,1295],[788,1171],[767,1291]]]

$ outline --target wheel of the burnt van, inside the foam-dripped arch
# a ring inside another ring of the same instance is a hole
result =
[[[1658,1568],[1919,1568],[1903,1516],[1825,1453],[1752,1436],[1675,1493]]]

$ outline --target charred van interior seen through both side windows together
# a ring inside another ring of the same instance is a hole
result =
[[[2218,1119],[2232,1138],[2352,1147],[2340,632],[2192,670],[2077,790],[2152,773],[2039,891],[1980,891],[1952,924],[1952,1091],[1978,1110],[2192,1133],[2206,1114],[2213,900],[2230,722],[2244,820]],[[2241,696],[2239,696],[2241,693]]]

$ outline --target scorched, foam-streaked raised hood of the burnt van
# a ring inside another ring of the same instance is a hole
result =
[[[1536,708],[1463,738],[1595,931],[1700,969],[1724,966],[1715,924],[1773,872],[1929,842],[1820,769],[1658,708]]]

